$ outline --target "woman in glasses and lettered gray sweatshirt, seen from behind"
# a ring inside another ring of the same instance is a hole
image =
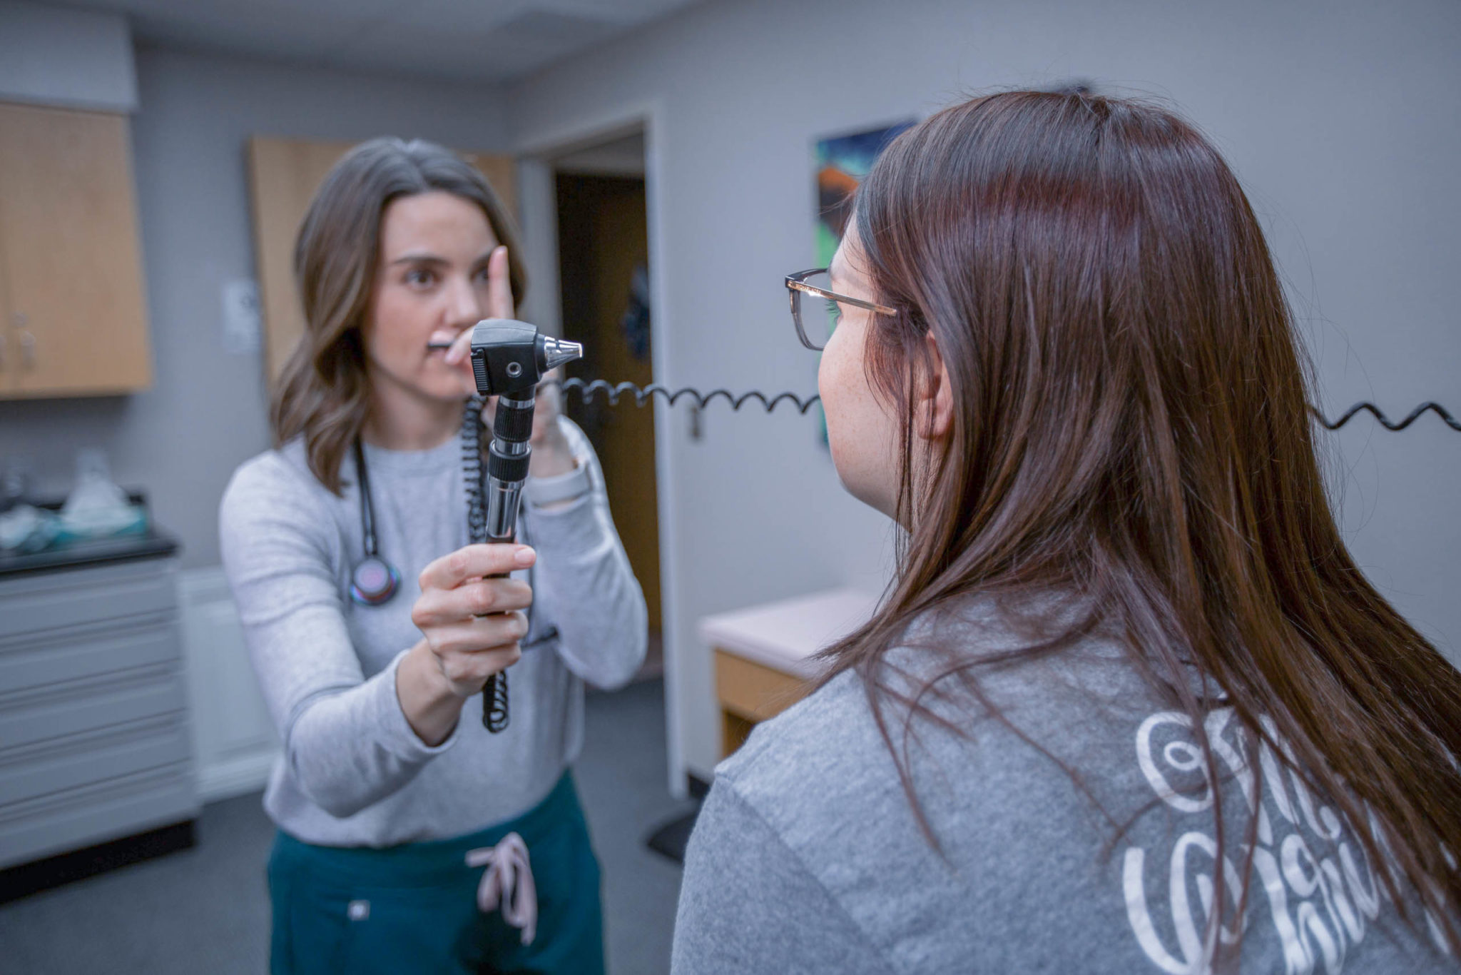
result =
[[[1211,143],[976,98],[786,284],[899,572],[717,769],[675,971],[1455,971],[1461,675],[1344,548]]]

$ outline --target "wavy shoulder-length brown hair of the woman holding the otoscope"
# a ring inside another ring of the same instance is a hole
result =
[[[370,402],[361,326],[375,284],[380,218],[396,197],[432,190],[482,208],[497,241],[507,244],[514,304],[527,292],[517,228],[469,162],[431,142],[371,139],[335,164],[300,225],[294,275],[305,329],[275,384],[269,422],[275,446],[304,436],[310,471],[336,494],[340,459]]]

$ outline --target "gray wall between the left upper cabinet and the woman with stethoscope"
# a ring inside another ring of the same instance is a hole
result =
[[[260,61],[137,53],[137,209],[153,386],[134,396],[0,402],[0,459],[32,459],[64,493],[77,447],[145,487],[181,536],[184,566],[218,563],[218,498],[240,462],[269,447],[259,354],[226,354],[222,287],[254,276],[245,139],[421,136],[503,146],[497,89],[400,82]]]

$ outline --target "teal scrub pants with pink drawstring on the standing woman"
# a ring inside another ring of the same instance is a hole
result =
[[[466,852],[507,833],[527,843],[538,934],[482,914],[484,867]],[[542,803],[470,836],[373,849],[316,846],[285,832],[269,855],[273,975],[603,972],[599,861],[565,772]]]

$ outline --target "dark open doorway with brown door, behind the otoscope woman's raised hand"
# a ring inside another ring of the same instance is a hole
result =
[[[611,384],[655,382],[650,336],[649,219],[644,132],[551,159],[558,210],[558,288],[562,338],[583,342],[574,374]],[[640,677],[663,672],[659,567],[659,497],[655,479],[655,411],[599,395],[564,398],[564,414],[587,434],[649,608],[649,653]]]

